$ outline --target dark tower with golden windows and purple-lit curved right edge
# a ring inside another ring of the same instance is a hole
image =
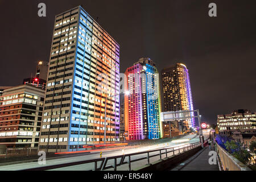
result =
[[[162,89],[163,111],[193,110],[189,73],[184,64],[177,63],[163,69]],[[187,119],[182,123],[185,130],[188,130],[195,126],[195,119]],[[168,123],[164,125],[166,126],[164,133],[170,133]]]

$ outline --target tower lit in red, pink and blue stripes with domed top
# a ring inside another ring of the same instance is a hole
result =
[[[159,139],[160,122],[159,75],[149,58],[141,58],[126,69],[125,130],[129,140]]]

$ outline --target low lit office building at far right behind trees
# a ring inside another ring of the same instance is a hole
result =
[[[256,113],[239,109],[231,114],[221,114],[217,116],[217,126],[220,135],[232,136],[235,131],[256,134]]]

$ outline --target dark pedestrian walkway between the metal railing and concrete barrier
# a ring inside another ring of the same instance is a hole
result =
[[[219,171],[218,163],[209,164],[209,146],[203,148],[195,156],[192,156],[184,163],[179,164],[172,171]]]

